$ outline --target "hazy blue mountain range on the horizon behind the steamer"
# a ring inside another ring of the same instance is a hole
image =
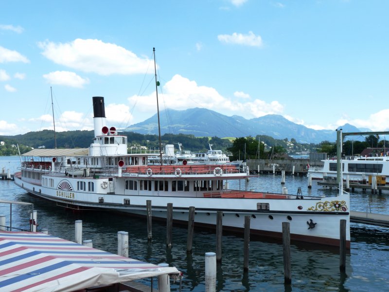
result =
[[[161,135],[193,134],[195,137],[247,137],[256,135],[268,135],[275,139],[291,138],[299,143],[320,143],[322,141],[336,141],[336,129],[314,130],[293,123],[281,115],[268,114],[259,118],[246,119],[242,116],[226,116],[213,110],[194,108],[188,110],[162,110],[160,111]],[[350,124],[341,127],[344,132],[360,132]],[[366,131],[369,129],[363,129]],[[133,131],[140,134],[158,135],[158,116],[131,125],[125,131]],[[369,130],[370,131],[370,130]],[[359,138],[364,140],[364,138]],[[354,139],[356,140],[356,139]]]

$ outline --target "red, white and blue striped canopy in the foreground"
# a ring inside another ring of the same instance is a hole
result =
[[[0,231],[0,291],[75,291],[162,274],[179,274],[65,239]]]

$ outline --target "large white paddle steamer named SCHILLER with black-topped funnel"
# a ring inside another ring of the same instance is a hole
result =
[[[350,246],[348,194],[321,198],[248,191],[244,164],[149,165],[148,154],[128,154],[127,137],[108,129],[103,97],[93,97],[93,111],[95,137],[89,148],[25,153],[15,183],[80,210],[146,216],[151,200],[153,218],[165,219],[167,204],[173,203],[173,219],[180,223],[188,221],[189,207],[195,206],[196,226],[215,227],[217,211],[223,211],[223,229],[234,232],[243,232],[250,216],[252,235],[280,238],[282,223],[289,222],[292,240],[317,244],[339,245],[339,221],[345,219]],[[69,167],[89,168],[89,175],[67,176]],[[236,187],[229,189],[233,181]]]

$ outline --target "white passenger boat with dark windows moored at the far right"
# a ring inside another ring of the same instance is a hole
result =
[[[323,166],[311,166],[308,175],[312,179],[336,178],[336,158],[322,160]],[[350,181],[368,180],[369,176],[380,177],[379,181],[389,181],[388,156],[350,156],[341,160],[343,179],[349,176]],[[382,178],[384,177],[384,178]]]

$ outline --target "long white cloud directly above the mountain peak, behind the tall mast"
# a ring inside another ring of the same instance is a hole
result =
[[[242,98],[237,100],[228,99],[219,94],[214,88],[199,86],[195,81],[180,75],[175,75],[163,87],[163,94],[159,94],[159,107],[163,104],[166,108],[174,110],[184,110],[188,108],[206,108],[215,110],[226,115],[242,115],[246,118],[254,118],[266,114],[281,114],[283,106],[278,101],[266,103],[263,100],[255,99],[249,102],[242,102]],[[156,112],[155,92],[148,96],[134,95],[128,98],[130,104],[137,106],[137,111],[147,114]],[[144,114],[143,114],[144,118]]]

